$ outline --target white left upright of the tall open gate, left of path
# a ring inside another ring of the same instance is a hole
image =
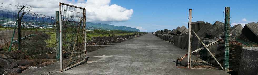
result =
[[[63,43],[62,43],[62,18],[61,18],[61,3],[59,3],[59,27],[60,27],[60,34],[59,34],[59,38],[60,38],[60,71],[62,72],[63,70],[63,64],[62,64],[62,60],[63,60]]]

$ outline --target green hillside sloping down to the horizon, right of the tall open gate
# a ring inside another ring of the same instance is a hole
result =
[[[126,26],[114,26],[109,24],[102,24],[102,23],[92,23],[86,22],[87,28],[95,28],[95,29],[107,29],[107,30],[125,30],[125,31],[137,31],[140,32],[139,29],[126,27]]]

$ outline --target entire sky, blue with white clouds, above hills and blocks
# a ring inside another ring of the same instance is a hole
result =
[[[25,3],[32,11],[55,15],[58,3],[86,8],[87,22],[105,23],[140,29],[141,32],[188,28],[188,10],[192,21],[224,20],[224,9],[230,7],[231,25],[258,22],[257,0],[0,0],[0,3]]]

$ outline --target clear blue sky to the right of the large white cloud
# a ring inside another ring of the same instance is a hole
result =
[[[111,0],[111,4],[133,9],[130,20],[112,24],[133,28],[141,27],[142,32],[172,30],[182,25],[187,27],[188,9],[193,9],[192,21],[215,22],[224,20],[224,7],[230,7],[232,25],[246,24],[258,22],[257,3],[258,0]]]

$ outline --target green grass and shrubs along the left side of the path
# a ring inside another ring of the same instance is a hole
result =
[[[0,30],[6,30],[6,29],[14,29],[13,27],[0,27]],[[74,28],[68,28],[67,31],[75,30]],[[30,34],[39,34],[39,33],[45,33],[49,35],[49,39],[45,39],[44,41],[47,43],[48,48],[55,48],[56,47],[56,30],[53,28],[47,28],[47,29],[39,29],[39,28],[22,28],[22,33],[25,33],[25,35]],[[82,33],[82,32],[80,32]],[[121,35],[133,35],[133,34],[143,34],[145,32],[133,32],[133,31],[122,31],[122,30],[101,30],[101,29],[95,29],[92,31],[86,31],[86,41],[89,41],[92,39],[92,37],[114,37],[114,36],[121,36]],[[3,35],[5,36],[5,35]],[[15,35],[18,36],[18,35]],[[66,34],[66,40],[71,41],[71,37],[76,36],[76,32],[68,33]],[[82,35],[79,35],[82,36]],[[74,39],[74,38],[73,38]],[[78,38],[78,42],[83,42],[83,37]],[[65,39],[63,39],[65,40]],[[17,46],[14,45],[12,47],[12,50],[16,49]],[[2,51],[8,50],[8,48],[2,48]]]

